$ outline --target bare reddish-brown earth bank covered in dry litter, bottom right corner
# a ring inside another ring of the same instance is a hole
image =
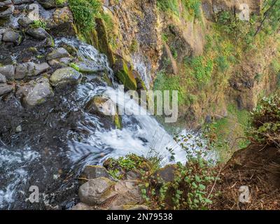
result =
[[[232,156],[221,169],[211,209],[280,209],[280,151],[274,147],[249,146]],[[239,202],[240,186],[248,186],[250,202]]]

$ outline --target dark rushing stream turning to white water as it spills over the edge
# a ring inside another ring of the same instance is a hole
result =
[[[171,162],[166,148],[176,143],[153,116],[125,115],[123,129],[118,130],[108,127],[99,116],[84,111],[94,95],[106,94],[116,102],[117,83],[106,57],[91,45],[75,39],[56,40],[57,45],[63,42],[78,48],[78,56],[89,60],[97,71],[109,73],[113,87],[98,79],[99,72],[85,76],[74,90],[56,94],[58,97],[50,106],[34,111],[34,118],[23,127],[29,130],[26,132],[29,136],[11,137],[9,146],[0,139],[1,209],[69,209],[76,202],[76,178],[83,167],[101,164],[109,157],[155,153],[162,158],[162,165]],[[140,63],[139,59],[135,63]],[[143,64],[134,66],[146,76]],[[145,80],[147,83],[150,77]],[[130,97],[118,104],[140,109]],[[185,162],[186,152],[179,146],[175,148],[175,160]],[[30,186],[38,186],[40,203],[26,202]]]

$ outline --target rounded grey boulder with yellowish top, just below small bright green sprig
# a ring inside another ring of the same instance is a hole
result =
[[[53,86],[67,84],[77,84],[80,83],[82,79],[82,74],[71,67],[66,67],[62,69],[57,69],[52,76],[50,81]]]

